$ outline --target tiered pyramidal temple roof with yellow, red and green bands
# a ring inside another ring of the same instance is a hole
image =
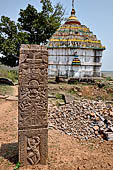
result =
[[[48,48],[88,48],[105,50],[101,41],[97,40],[88,27],[81,25],[72,8],[71,16],[53,34],[48,43]]]

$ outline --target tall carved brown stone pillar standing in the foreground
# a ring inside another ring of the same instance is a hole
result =
[[[21,45],[19,58],[18,140],[22,165],[46,164],[48,157],[48,52]]]

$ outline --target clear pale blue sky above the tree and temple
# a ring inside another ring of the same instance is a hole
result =
[[[72,8],[71,0],[51,0],[55,5],[59,2],[65,9],[65,17],[69,17]],[[17,21],[20,9],[28,4],[41,10],[40,0],[0,0],[0,17],[2,15]],[[103,51],[102,71],[113,71],[113,0],[75,0],[76,16],[81,24],[86,25],[106,46]]]

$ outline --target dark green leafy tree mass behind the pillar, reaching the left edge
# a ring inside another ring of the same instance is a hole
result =
[[[21,44],[46,44],[60,26],[64,10],[60,3],[54,7],[50,0],[41,0],[42,11],[28,4],[20,9],[17,24],[2,16],[0,22],[0,62],[8,66],[18,65]]]

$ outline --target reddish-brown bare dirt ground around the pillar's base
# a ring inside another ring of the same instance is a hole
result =
[[[17,96],[17,87],[13,87]],[[0,170],[13,170],[18,162],[18,103],[0,99]],[[79,141],[49,129],[48,165],[19,170],[113,170],[113,141]]]

